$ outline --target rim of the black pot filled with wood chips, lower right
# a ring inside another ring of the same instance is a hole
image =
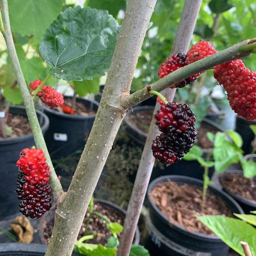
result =
[[[163,218],[163,220],[166,222],[166,224],[168,224],[169,227],[169,219],[163,215],[163,213],[157,208],[157,206],[153,203],[153,201],[151,200],[149,194],[151,192],[151,190],[155,187],[155,185],[159,182],[163,182],[166,180],[174,180],[175,182],[179,179],[183,180],[183,183],[189,182],[189,183],[194,183],[194,185],[199,185],[203,187],[203,181],[202,180],[198,180],[192,177],[188,177],[188,176],[181,176],[181,175],[165,175],[165,176],[161,176],[158,177],[154,180],[151,181],[151,183],[148,186],[148,190],[147,190],[147,198],[148,198],[148,202],[151,205],[151,207],[154,209],[154,211],[157,213],[157,215],[159,215],[161,218]],[[185,181],[185,180],[186,181]],[[222,195],[224,195],[229,201],[232,202],[232,204],[234,204],[234,206],[238,209],[239,213],[243,214],[244,211],[242,210],[242,208],[240,207],[240,205],[227,193],[216,189],[214,186],[209,185],[209,191],[213,192],[215,194],[215,191],[217,191],[218,193],[221,193]],[[186,230],[184,227],[172,223],[172,228],[175,229],[176,231],[185,234],[186,236],[190,236],[192,238],[196,238],[196,239],[202,239],[205,241],[222,241],[218,236],[210,236],[210,235],[206,235],[203,233],[198,233],[198,232],[190,232],[188,230]]]

